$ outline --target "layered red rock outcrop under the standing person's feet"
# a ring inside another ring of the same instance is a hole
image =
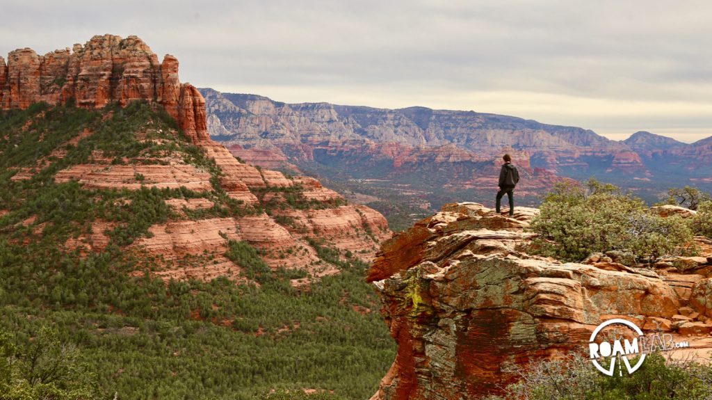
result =
[[[523,228],[538,210],[515,210],[449,204],[382,245],[367,279],[399,349],[374,399],[498,393],[513,379],[504,363],[584,351],[614,317],[674,335],[712,329],[699,317],[711,314],[704,261],[683,273],[531,256]]]

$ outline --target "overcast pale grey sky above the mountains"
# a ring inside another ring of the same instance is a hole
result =
[[[199,87],[712,135],[712,2],[2,1],[0,55],[137,35]]]

